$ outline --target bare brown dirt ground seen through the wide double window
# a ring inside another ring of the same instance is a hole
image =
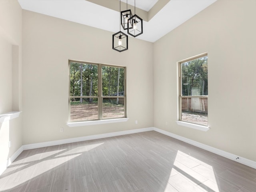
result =
[[[103,103],[103,119],[124,117],[124,105]],[[70,120],[97,120],[98,104],[78,104],[70,106]]]

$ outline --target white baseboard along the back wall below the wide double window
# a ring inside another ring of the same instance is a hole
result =
[[[70,138],[70,139],[62,139],[62,140],[56,140],[56,141],[28,144],[23,146],[23,150],[35,149],[40,147],[48,147],[48,146],[66,144],[66,143],[73,143],[73,142],[79,142],[79,141],[86,141],[86,140],[92,140],[92,139],[101,139],[101,138],[107,138],[107,137],[113,137],[113,136],[119,136],[119,135],[153,131],[153,130],[154,130],[153,127],[149,127],[149,128],[133,129],[133,130],[127,130],[127,131],[119,131],[119,132],[104,133],[104,134],[98,134],[98,135],[90,135],[90,136],[84,136],[84,137],[76,137],[76,138]]]

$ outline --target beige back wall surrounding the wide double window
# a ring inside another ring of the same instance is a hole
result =
[[[129,37],[120,53],[112,50],[111,32],[26,10],[22,19],[23,144],[153,126],[152,43]],[[68,59],[127,67],[127,122],[66,125]]]

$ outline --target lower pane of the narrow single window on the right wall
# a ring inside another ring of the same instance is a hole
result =
[[[208,98],[182,98],[181,120],[207,125]]]

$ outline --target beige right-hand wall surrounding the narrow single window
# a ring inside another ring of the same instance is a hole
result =
[[[255,8],[256,1],[217,1],[154,43],[154,127],[256,161]],[[175,122],[176,62],[203,52],[208,132]]]

